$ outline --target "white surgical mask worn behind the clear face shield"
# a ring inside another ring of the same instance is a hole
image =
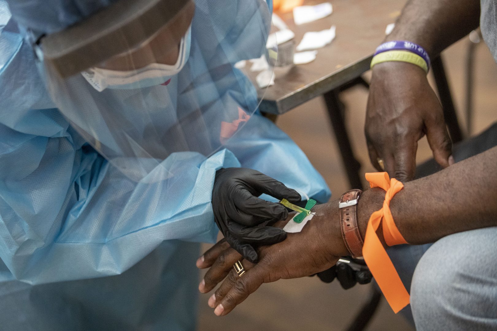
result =
[[[191,45],[191,26],[181,38],[179,55],[174,65],[152,63],[143,68],[120,71],[92,67],[81,74],[98,92],[110,89],[135,89],[162,84],[176,75],[188,61]]]

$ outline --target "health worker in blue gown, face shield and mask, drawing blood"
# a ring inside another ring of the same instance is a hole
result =
[[[285,216],[237,189],[213,208],[218,171],[330,198],[234,66],[269,27],[265,0],[0,0],[1,330],[194,330],[213,209]]]

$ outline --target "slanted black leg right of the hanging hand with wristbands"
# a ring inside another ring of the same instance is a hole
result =
[[[450,138],[453,143],[459,142],[463,139],[463,133],[461,132],[459,122],[457,121],[456,109],[454,107],[454,102],[452,101],[452,95],[450,94],[449,83],[447,81],[447,76],[445,75],[441,56],[435,58],[431,62],[431,69],[433,71],[433,76],[435,77],[440,103],[442,104],[443,116],[445,117],[447,128],[449,129]]]

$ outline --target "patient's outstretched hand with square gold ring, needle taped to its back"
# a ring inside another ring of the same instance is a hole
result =
[[[338,257],[349,254],[341,238],[338,201],[316,205],[312,210],[316,216],[301,232],[289,233],[280,243],[260,247],[257,264],[243,260],[247,272],[241,277],[233,265],[242,257],[224,239],[200,257],[197,267],[210,267],[200,283],[200,292],[209,292],[228,276],[209,299],[216,315],[231,312],[262,283],[309,276],[330,268]],[[275,226],[284,227],[293,215]]]

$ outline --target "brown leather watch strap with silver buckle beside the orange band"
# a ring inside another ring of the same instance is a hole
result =
[[[340,230],[343,242],[352,258],[362,256],[362,241],[357,225],[357,201],[361,190],[351,190],[342,195],[338,207],[340,208]]]

